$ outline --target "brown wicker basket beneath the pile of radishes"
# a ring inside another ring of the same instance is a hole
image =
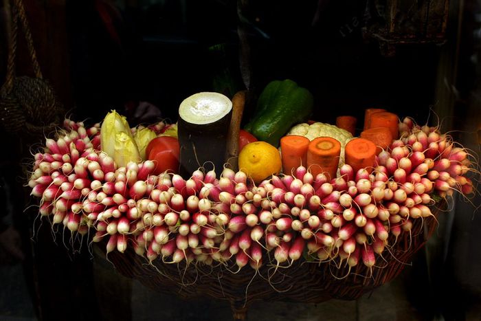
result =
[[[185,299],[208,295],[229,300],[234,319],[245,320],[247,308],[255,300],[306,303],[319,303],[333,298],[355,300],[389,282],[402,272],[413,254],[425,245],[436,230],[436,217],[440,211],[441,208],[433,208],[434,217],[423,222],[415,220],[412,236],[409,233],[401,234],[390,251],[383,254],[384,261],[378,260],[372,272],[362,263],[349,270],[345,264],[338,267],[334,261],[310,263],[305,260],[299,260],[289,268],[278,267],[276,271],[275,266],[263,265],[259,269],[260,275],[255,275],[254,270],[248,267],[232,273],[236,268],[229,270],[222,265],[194,267],[186,266],[185,262],[179,265],[162,263],[160,259],[150,265],[131,247],[124,254],[112,252],[108,257],[122,275],[139,280],[149,289],[164,294],[177,293]],[[390,244],[394,243],[394,239],[389,241]]]

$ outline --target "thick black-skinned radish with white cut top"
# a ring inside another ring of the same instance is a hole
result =
[[[177,130],[182,177],[199,167],[221,173],[231,115],[232,102],[221,93],[195,93],[181,102]]]

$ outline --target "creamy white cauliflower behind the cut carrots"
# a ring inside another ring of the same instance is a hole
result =
[[[297,124],[291,128],[287,135],[300,135],[313,140],[316,137],[332,137],[341,143],[341,157],[339,159],[339,167],[344,165],[344,148],[347,142],[353,139],[353,135],[345,129],[340,129],[337,126],[331,124],[324,124],[322,122],[315,122],[311,125]]]

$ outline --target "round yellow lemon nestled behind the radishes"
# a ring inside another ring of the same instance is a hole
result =
[[[276,147],[267,142],[251,142],[240,151],[238,166],[258,184],[262,179],[279,173],[282,162]]]

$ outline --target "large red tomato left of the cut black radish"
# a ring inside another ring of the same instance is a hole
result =
[[[179,154],[179,140],[170,136],[156,137],[148,143],[146,148],[147,158],[155,162],[155,175],[164,173],[166,170],[177,173]]]

